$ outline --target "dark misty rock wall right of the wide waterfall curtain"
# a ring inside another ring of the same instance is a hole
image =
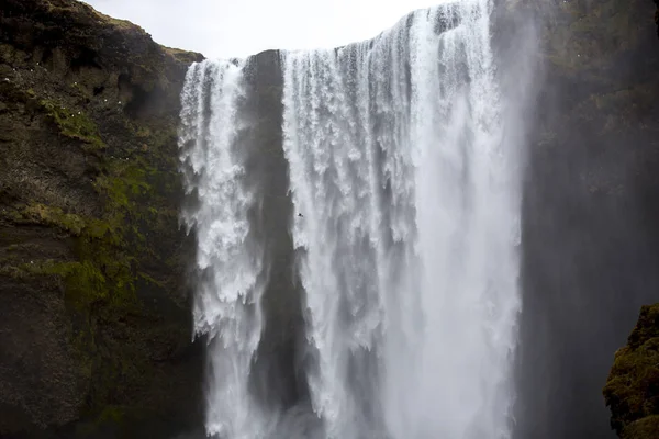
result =
[[[639,307],[659,299],[654,8],[648,0],[541,7],[516,437],[610,438],[601,389],[613,353]]]

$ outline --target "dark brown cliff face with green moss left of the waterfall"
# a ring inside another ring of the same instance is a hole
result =
[[[0,436],[202,424],[177,175],[198,59],[72,0],[0,3]]]

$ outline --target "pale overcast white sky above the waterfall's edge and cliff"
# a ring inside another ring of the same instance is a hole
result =
[[[335,47],[370,38],[415,9],[445,0],[87,0],[141,25],[160,44],[206,57],[268,48]]]

